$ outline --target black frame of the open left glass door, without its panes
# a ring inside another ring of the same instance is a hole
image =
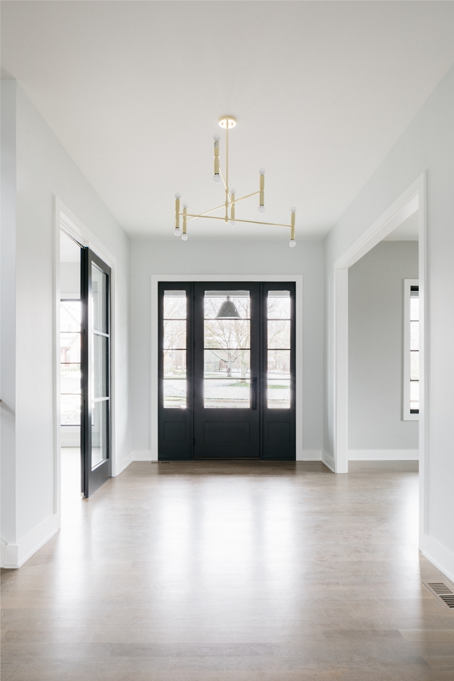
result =
[[[91,263],[106,274],[105,323],[107,328],[107,458],[91,468],[91,387],[90,367],[92,365],[91,343]],[[81,303],[81,347],[80,372],[82,389],[82,416],[80,424],[80,491],[89,497],[111,477],[111,268],[90,248],[80,249],[80,303]]]

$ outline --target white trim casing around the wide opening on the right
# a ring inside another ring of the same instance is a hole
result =
[[[426,177],[422,173],[385,213],[347,248],[334,263],[334,471],[348,472],[348,268],[387,237],[407,217],[418,210],[420,262],[420,329],[424,323],[426,296]],[[424,413],[424,338],[420,338],[420,413]],[[424,460],[424,419],[420,419],[420,458]],[[424,464],[420,479],[424,477]]]

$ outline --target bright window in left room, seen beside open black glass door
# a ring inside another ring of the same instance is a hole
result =
[[[60,371],[62,426],[80,425],[80,301],[61,301]]]

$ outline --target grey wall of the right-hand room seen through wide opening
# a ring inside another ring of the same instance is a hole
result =
[[[350,459],[417,456],[418,422],[402,420],[404,279],[418,279],[418,241],[382,241],[348,271]]]

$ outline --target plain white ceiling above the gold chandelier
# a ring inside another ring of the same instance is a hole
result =
[[[3,74],[129,234],[170,235],[175,191],[223,202],[213,133],[232,113],[237,193],[265,166],[263,219],[295,205],[297,238],[321,238],[453,63],[454,3],[4,1],[1,33]],[[237,215],[257,219],[250,200]]]

